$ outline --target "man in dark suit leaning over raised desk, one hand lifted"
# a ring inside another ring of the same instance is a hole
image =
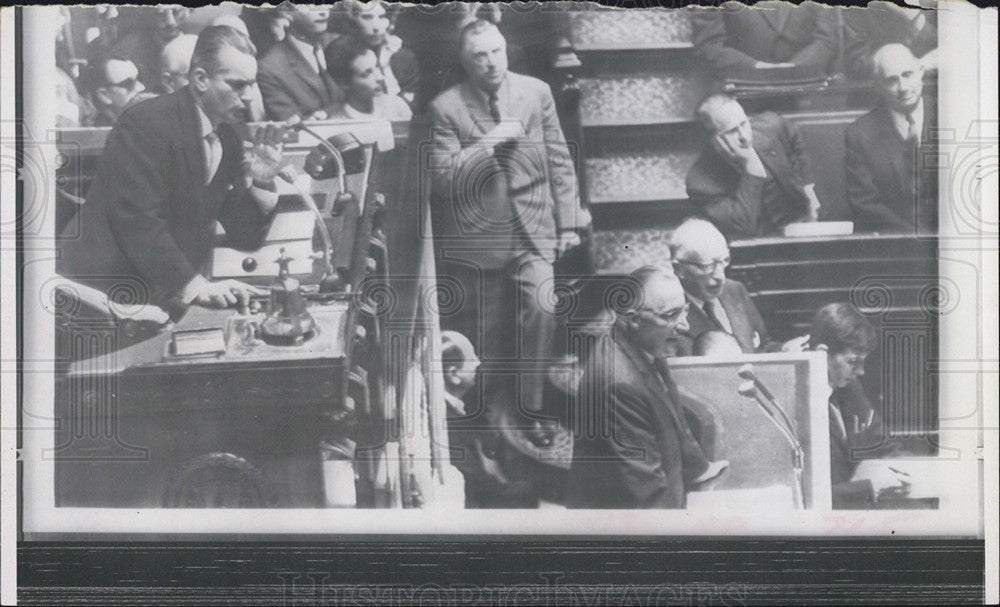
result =
[[[245,120],[257,61],[236,30],[206,28],[190,84],[126,110],[108,135],[83,207],[82,237],[67,249],[70,275],[112,280],[131,303],[225,307],[252,288],[204,277],[216,220],[234,246],[253,247],[277,204],[281,133],[257,133],[245,156],[234,129]],[[101,284],[107,287],[107,284]]]

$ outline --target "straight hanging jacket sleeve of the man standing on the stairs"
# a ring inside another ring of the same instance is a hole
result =
[[[556,228],[571,230],[590,225],[590,212],[580,205],[576,169],[569,153],[552,90],[544,85],[542,90],[542,129],[545,135],[545,152],[548,161],[549,189],[555,202]]]

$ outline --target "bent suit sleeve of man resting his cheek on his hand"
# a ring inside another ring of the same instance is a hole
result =
[[[729,238],[757,233],[761,216],[765,179],[741,174],[733,191],[726,191],[698,165],[688,173],[687,193],[691,204],[701,209]]]

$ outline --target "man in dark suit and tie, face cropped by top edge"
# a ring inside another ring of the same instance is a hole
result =
[[[288,35],[260,61],[257,82],[271,120],[325,120],[344,99],[326,71],[324,49],[332,34],[326,29],[330,10],[321,6],[281,5]]]

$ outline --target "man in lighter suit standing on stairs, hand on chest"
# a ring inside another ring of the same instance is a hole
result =
[[[442,321],[487,364],[538,366],[520,378],[519,397],[494,394],[538,411],[555,325],[552,263],[579,245],[590,214],[548,85],[507,71],[504,38],[486,21],[462,31],[460,57],[467,78],[431,103],[423,165],[438,272],[464,288],[463,309]]]

